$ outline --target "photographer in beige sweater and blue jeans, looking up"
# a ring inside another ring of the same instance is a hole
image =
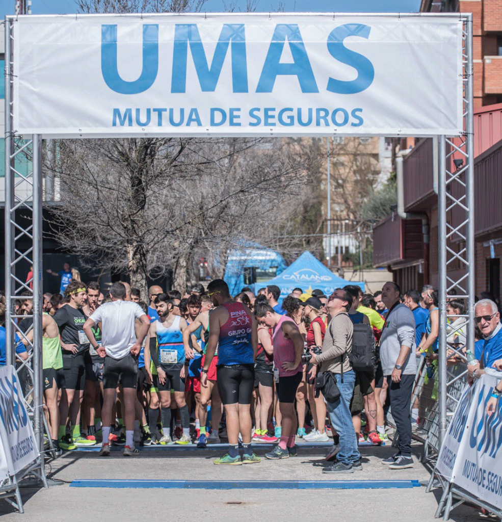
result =
[[[323,473],[353,473],[354,470],[363,469],[349,408],[355,383],[355,372],[349,360],[354,331],[347,313],[351,305],[352,295],[341,288],[329,296],[326,307],[332,319],[322,342],[322,353],[316,355],[311,351],[310,362],[320,364],[322,373],[335,374],[341,393],[337,400],[326,400],[331,425],[340,436],[340,451],[337,461],[323,468]]]

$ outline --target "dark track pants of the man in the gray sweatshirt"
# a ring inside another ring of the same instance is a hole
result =
[[[399,453],[411,456],[411,394],[415,375],[401,375],[401,382],[393,383],[387,376],[389,385],[390,410],[396,421],[399,434]]]

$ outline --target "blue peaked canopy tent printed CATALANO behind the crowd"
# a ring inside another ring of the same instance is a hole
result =
[[[281,274],[265,283],[255,284],[255,291],[258,288],[275,284],[281,289],[279,303],[289,295],[294,288],[301,288],[304,292],[312,291],[316,288],[322,290],[325,295],[333,293],[334,289],[344,287],[346,284],[357,284],[364,292],[364,282],[345,281],[341,277],[333,274],[310,252],[304,252],[294,263],[286,268]]]

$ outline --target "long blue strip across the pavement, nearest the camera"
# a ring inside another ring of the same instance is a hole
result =
[[[417,480],[74,480],[71,488],[157,489],[410,489]]]

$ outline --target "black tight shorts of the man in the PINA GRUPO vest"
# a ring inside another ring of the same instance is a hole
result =
[[[218,392],[225,404],[251,404],[255,384],[254,364],[232,364],[217,366]]]

